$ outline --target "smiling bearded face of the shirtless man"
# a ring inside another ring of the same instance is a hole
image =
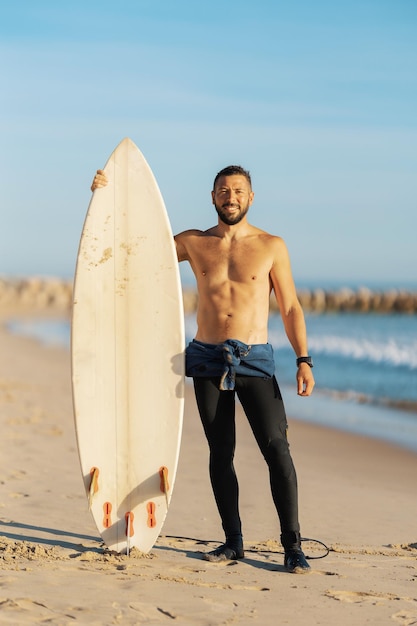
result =
[[[233,226],[245,217],[254,193],[245,176],[234,174],[219,178],[211,196],[220,220]]]

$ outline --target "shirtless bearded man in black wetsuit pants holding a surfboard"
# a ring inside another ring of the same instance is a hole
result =
[[[98,170],[91,189],[107,179]],[[179,261],[188,261],[197,280],[197,334],[186,350],[197,405],[210,449],[210,479],[225,543],[204,555],[209,561],[244,557],[238,507],[235,394],[268,464],[272,497],[281,525],[284,564],[293,573],[310,566],[301,550],[295,468],[287,441],[287,419],[268,341],[272,289],[296,354],[297,392],[313,391],[304,314],[298,301],[284,241],[249,224],[254,199],[249,172],[221,170],[213,185],[216,226],[175,237]]]

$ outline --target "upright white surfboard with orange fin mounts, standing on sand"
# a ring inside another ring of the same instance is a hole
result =
[[[148,552],[165,520],[184,403],[178,262],[164,202],[124,139],[91,199],[77,259],[71,333],[84,485],[111,550]]]

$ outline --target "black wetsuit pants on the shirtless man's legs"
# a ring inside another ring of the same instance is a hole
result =
[[[226,540],[242,534],[239,487],[233,465],[235,394],[268,464],[272,497],[284,548],[298,547],[297,477],[287,440],[287,418],[275,377],[236,376],[235,391],[220,391],[219,378],[194,378],[197,405],[210,449],[210,479]]]

